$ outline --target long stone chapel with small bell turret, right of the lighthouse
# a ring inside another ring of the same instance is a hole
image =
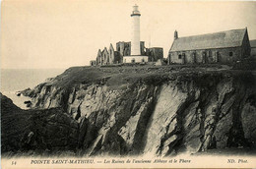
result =
[[[178,37],[168,52],[168,64],[233,63],[250,56],[247,28]]]

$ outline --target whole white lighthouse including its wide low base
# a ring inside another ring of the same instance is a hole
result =
[[[131,14],[132,18],[132,38],[131,38],[131,55],[124,56],[124,63],[141,63],[148,62],[148,56],[141,55],[141,42],[140,42],[140,11],[138,10],[138,5],[133,6],[133,11]]]

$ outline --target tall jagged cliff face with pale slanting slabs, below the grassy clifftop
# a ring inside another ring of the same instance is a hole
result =
[[[165,156],[251,147],[256,141],[251,73],[130,76],[130,70],[119,70],[93,82],[65,82],[72,72],[23,93],[32,96],[32,107],[62,107],[76,120],[80,154]]]

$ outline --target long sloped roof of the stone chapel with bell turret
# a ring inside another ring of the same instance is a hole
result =
[[[174,39],[170,51],[236,47],[242,45],[246,28]]]

